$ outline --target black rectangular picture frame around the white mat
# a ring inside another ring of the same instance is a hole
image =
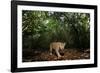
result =
[[[18,5],[94,9],[94,48],[95,48],[94,64],[17,68],[17,6]],[[97,6],[96,5],[64,4],[64,3],[48,3],[48,2],[32,2],[32,1],[11,1],[11,72],[75,69],[75,68],[90,68],[90,67],[97,67]]]

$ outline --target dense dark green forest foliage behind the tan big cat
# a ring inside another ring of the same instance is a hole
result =
[[[23,10],[22,34],[24,49],[47,49],[54,41],[90,48],[90,14]]]

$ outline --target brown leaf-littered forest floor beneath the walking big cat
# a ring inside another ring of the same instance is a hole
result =
[[[57,61],[57,60],[77,60],[77,59],[90,59],[90,49],[79,51],[77,49],[64,49],[60,52],[60,58],[57,58],[55,52],[50,55],[49,51],[39,50],[24,50],[23,51],[23,62],[34,62],[34,61]]]

